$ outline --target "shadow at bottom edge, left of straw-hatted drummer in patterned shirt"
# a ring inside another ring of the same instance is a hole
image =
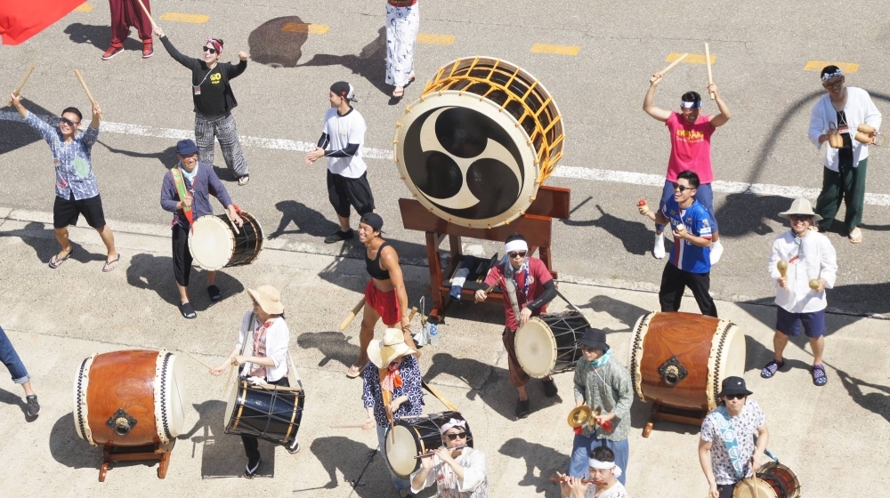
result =
[[[374,471],[379,472],[381,475],[385,474],[386,479],[389,480],[389,471],[384,468],[384,462],[380,458],[376,458],[376,448],[368,448],[364,443],[353,441],[343,436],[330,436],[313,440],[310,450],[328,472],[328,484],[322,486],[322,489],[334,489],[339,486],[336,475],[336,471],[339,469],[346,481],[345,484],[352,487],[355,495],[376,498],[375,492],[363,489],[363,486],[366,485],[359,482],[361,477],[368,471],[368,467],[375,466],[373,460],[377,460],[378,463],[376,465],[380,466]],[[389,486],[392,486],[392,484]],[[310,490],[295,489],[294,493],[305,491]],[[395,491],[393,490],[394,494]]]

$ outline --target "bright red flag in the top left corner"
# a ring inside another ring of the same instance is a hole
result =
[[[20,44],[67,16],[85,0],[0,0],[4,45]]]

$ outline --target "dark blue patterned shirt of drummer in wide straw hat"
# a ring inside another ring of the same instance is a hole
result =
[[[424,392],[422,390],[420,366],[417,365],[417,358],[410,355],[403,357],[400,370],[402,385],[400,388],[393,390],[392,399],[407,396],[408,401],[402,403],[393,415],[396,419],[400,419],[401,417],[416,417],[417,415],[424,414]],[[386,420],[384,395],[380,389],[380,374],[377,372],[377,367],[373,363],[369,363],[361,376],[365,380],[365,387],[361,391],[361,398],[365,402],[365,408],[374,407],[374,419],[377,425],[381,427],[389,425],[389,421]]]

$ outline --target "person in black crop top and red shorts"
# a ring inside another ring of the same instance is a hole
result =
[[[377,213],[368,213],[359,222],[359,240],[365,245],[365,269],[371,277],[365,286],[365,314],[361,319],[359,333],[359,359],[352,364],[346,374],[358,377],[361,369],[368,365],[368,344],[374,339],[374,325],[383,320],[389,328],[401,327],[405,342],[411,349],[417,349],[411,337],[408,306],[408,291],[401,275],[399,254],[380,237],[384,219]]]

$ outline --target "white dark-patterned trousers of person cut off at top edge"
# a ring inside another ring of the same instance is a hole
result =
[[[414,43],[420,30],[417,4],[386,4],[386,84],[405,86],[414,72]]]

